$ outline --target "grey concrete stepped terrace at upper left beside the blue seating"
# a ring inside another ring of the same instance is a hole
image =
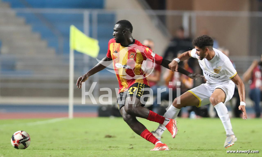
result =
[[[54,57],[55,51],[47,47],[39,33],[32,32],[31,26],[25,24],[25,19],[17,17],[8,3],[0,1],[0,39],[1,55]],[[27,69],[19,66],[17,70]]]

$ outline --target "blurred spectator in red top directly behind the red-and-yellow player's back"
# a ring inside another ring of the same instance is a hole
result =
[[[155,44],[151,39],[144,40],[143,44],[154,51]],[[146,62],[146,64],[152,64],[152,62]],[[154,65],[146,65],[146,66],[153,67]],[[151,72],[151,74],[150,74],[150,72]],[[165,95],[168,95],[169,92],[168,92],[167,86],[157,85],[157,83],[160,81],[160,77],[161,77],[161,66],[155,64],[154,68],[146,71],[146,76],[147,76],[147,80],[149,82],[149,85],[150,85],[151,89],[153,90],[153,96],[157,95],[157,88],[160,88],[160,89],[166,88],[166,92],[162,92],[160,97],[157,98],[157,99],[163,100]],[[152,110],[155,113],[157,113],[157,111],[158,111],[157,108],[160,106],[160,104],[157,104],[157,99],[155,99],[154,102],[153,102],[153,105],[151,105],[149,107],[149,109]]]

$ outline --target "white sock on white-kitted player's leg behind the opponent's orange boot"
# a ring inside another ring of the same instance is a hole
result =
[[[175,108],[173,105],[171,105],[168,110],[165,112],[164,116],[165,118],[172,118],[175,119],[179,113],[180,109],[179,108]],[[162,135],[165,131],[165,125],[160,124],[157,128],[157,130],[155,130],[155,132],[158,135]]]

